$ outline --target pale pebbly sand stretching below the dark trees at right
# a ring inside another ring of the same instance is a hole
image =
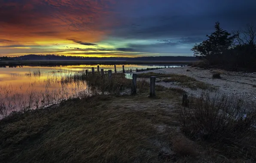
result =
[[[189,69],[190,71],[187,71]],[[224,70],[219,70],[223,74],[221,79],[212,78],[212,69],[201,69],[197,67],[185,66],[176,68],[166,68],[166,69],[156,69],[137,73],[146,72],[156,72],[165,74],[183,74],[195,78],[198,81],[216,86],[219,93],[227,94],[228,96],[237,96],[238,98],[243,98],[244,100],[249,100],[251,102],[256,101],[256,73],[244,73],[244,72],[228,72]],[[159,81],[161,79],[157,79]],[[181,88],[174,82],[157,82],[157,85],[162,85],[165,87]],[[190,88],[183,88],[189,94],[200,95],[203,90],[191,90]]]

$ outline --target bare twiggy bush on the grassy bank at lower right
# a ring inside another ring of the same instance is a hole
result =
[[[179,115],[186,135],[223,142],[240,142],[256,124],[255,105],[219,94],[190,97],[189,107],[181,108]]]

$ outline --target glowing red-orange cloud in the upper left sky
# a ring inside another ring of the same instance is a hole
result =
[[[0,39],[23,45],[97,42],[109,31],[113,0],[0,0]],[[6,43],[6,42],[5,42]],[[11,42],[7,42],[11,43]],[[3,42],[0,42],[3,45]]]

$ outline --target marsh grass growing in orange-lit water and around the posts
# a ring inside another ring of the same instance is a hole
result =
[[[40,70],[33,75],[42,74]],[[44,87],[40,91],[36,88]],[[54,89],[52,89],[54,88]],[[138,92],[149,90],[149,84],[144,80],[137,81]],[[27,90],[24,90],[27,89]],[[111,80],[108,74],[102,77],[100,73],[93,75],[85,70],[68,73],[50,73],[43,82],[32,82],[29,85],[15,88],[12,85],[0,87],[0,114],[8,115],[12,111],[26,111],[40,109],[63,100],[82,98],[88,95],[100,94],[129,94],[131,92],[131,79],[125,78],[124,73],[113,73]]]

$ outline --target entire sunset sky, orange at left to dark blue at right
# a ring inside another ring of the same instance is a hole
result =
[[[192,56],[216,21],[255,17],[256,0],[0,0],[0,56]]]

